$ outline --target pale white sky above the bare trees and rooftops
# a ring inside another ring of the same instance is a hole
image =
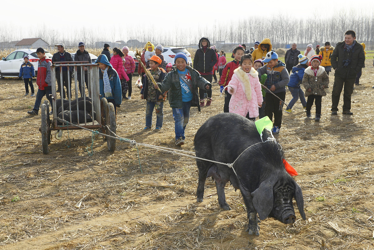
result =
[[[1,1],[0,25],[10,27],[15,34],[27,33],[28,29],[40,25],[47,28],[95,28],[101,29],[121,25],[122,28],[137,29],[150,23],[177,25],[213,25],[214,22],[229,22],[253,16],[266,18],[271,15],[282,15],[285,18],[310,18],[315,15],[328,16],[333,11],[344,10],[349,13],[374,11],[374,1],[329,0],[329,1],[240,1],[215,0],[202,4],[200,0],[188,1],[139,1],[112,0],[98,1]],[[32,4],[31,4],[32,3]],[[233,4],[231,4],[233,3]],[[281,4],[280,4],[281,3]],[[21,9],[22,7],[22,9]],[[45,9],[43,9],[45,8]],[[66,11],[66,10],[67,11]],[[22,27],[22,28],[21,28]],[[26,37],[22,37],[26,38]],[[117,40],[121,39],[116,37]]]

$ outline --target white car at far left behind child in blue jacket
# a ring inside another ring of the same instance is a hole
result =
[[[52,54],[45,51],[46,57],[52,59]],[[3,57],[0,61],[0,79],[4,77],[18,77],[19,69],[24,62],[24,56],[28,55],[30,63],[34,65],[35,75],[38,71],[38,56],[36,49],[17,49],[10,53],[7,57]]]

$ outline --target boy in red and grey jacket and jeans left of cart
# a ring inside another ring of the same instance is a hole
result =
[[[52,65],[52,61],[46,58],[43,48],[37,48],[36,54],[39,58],[38,76],[36,78],[36,84],[39,88],[36,94],[34,109],[31,111],[27,111],[29,115],[37,115],[39,113],[40,103],[42,102],[42,98],[45,95],[52,107],[52,97],[49,96],[52,95],[52,86],[50,83],[50,66]]]

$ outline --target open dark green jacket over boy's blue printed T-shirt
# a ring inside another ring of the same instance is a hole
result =
[[[208,85],[209,88],[212,88],[211,83],[205,80],[202,76],[200,76],[199,72],[197,72],[194,68],[190,66],[186,66],[186,68],[191,73],[192,79],[192,89],[191,92],[193,94],[191,107],[197,107],[200,111],[200,98],[198,93],[198,88],[205,89]],[[158,83],[159,88],[162,92],[169,91],[169,104],[172,108],[181,109],[183,107],[182,103],[182,91],[181,91],[181,82],[179,80],[179,75],[177,71],[177,67],[173,67],[172,71],[166,74],[165,78],[163,79],[162,83]]]

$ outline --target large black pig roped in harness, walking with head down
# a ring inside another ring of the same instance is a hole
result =
[[[263,132],[264,141],[270,137]],[[304,199],[301,188],[286,172],[282,147],[275,141],[261,142],[253,121],[234,113],[221,113],[209,118],[197,130],[194,138],[196,156],[227,165],[197,159],[199,185],[197,202],[203,201],[206,177],[213,177],[217,187],[218,203],[230,210],[224,187],[231,182],[242,193],[248,215],[248,233],[259,235],[257,213],[260,219],[274,217],[285,224],[296,220],[292,198],[295,198],[301,217],[305,220]],[[247,149],[249,146],[253,147]],[[247,149],[247,150],[246,150]],[[238,179],[239,177],[239,179]]]

